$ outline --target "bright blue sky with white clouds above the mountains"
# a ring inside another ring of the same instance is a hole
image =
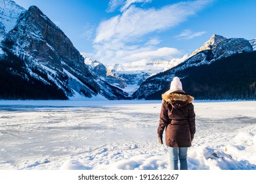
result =
[[[105,65],[191,54],[213,33],[256,38],[255,0],[14,0],[39,7],[85,56]]]

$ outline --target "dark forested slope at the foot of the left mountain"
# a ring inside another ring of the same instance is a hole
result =
[[[36,71],[34,71],[36,72]],[[30,76],[24,61],[9,53],[0,59],[0,99],[68,99],[47,75],[49,84]]]

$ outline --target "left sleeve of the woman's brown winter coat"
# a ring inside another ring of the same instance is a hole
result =
[[[169,122],[169,118],[168,118],[167,102],[163,100],[161,104],[160,121],[158,125],[158,137],[163,137],[163,131],[165,127],[168,125],[168,122]]]

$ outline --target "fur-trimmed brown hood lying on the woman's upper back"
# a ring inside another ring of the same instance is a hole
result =
[[[194,97],[186,93],[163,93],[161,97],[175,108],[182,107],[194,101]]]

